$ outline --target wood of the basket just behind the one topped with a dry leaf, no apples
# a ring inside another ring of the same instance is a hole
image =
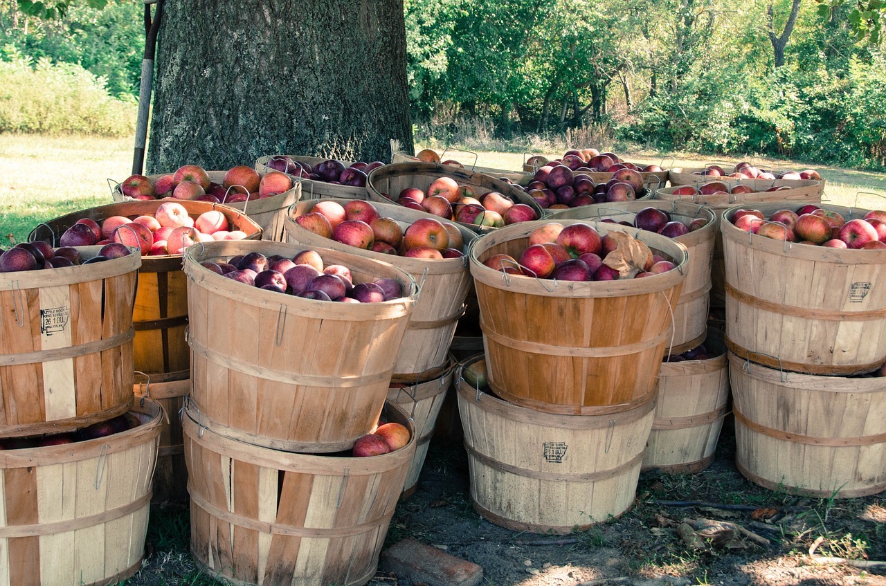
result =
[[[686,246],[689,260],[686,265],[686,281],[680,290],[680,301],[673,308],[674,335],[672,354],[691,350],[703,343],[707,331],[708,305],[711,292],[711,260],[714,244],[718,235],[717,221],[714,212],[696,204],[679,201],[636,201],[617,202],[612,204],[588,205],[569,210],[551,212],[546,220],[627,220],[633,218],[641,210],[654,207],[671,214],[672,220],[680,220],[688,225],[696,218],[705,220],[704,227],[674,240]]]

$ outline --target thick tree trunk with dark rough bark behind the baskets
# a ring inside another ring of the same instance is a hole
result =
[[[413,150],[402,0],[166,0],[147,168]]]

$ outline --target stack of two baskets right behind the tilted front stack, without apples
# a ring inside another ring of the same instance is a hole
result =
[[[416,458],[409,468],[403,489],[404,496],[408,496],[416,490],[431,433],[455,372],[455,361],[449,355],[449,346],[458,320],[464,313],[464,299],[470,286],[467,256],[442,259],[407,258],[357,249],[323,235],[317,235],[299,226],[295,220],[312,212],[320,201],[309,199],[292,206],[285,227],[287,243],[302,248],[327,247],[391,263],[412,277],[418,287],[415,309],[409,317],[403,342],[399,351],[392,357],[393,371],[388,390],[389,400],[406,410],[409,417],[415,421],[419,434]],[[338,203],[344,207],[350,202],[345,199],[327,198],[323,203],[326,205]],[[373,201],[359,204],[373,206],[380,217],[397,221],[404,230],[416,220],[435,218],[430,214],[390,202]],[[455,247],[467,251],[477,234],[466,227],[455,224],[453,227],[461,236],[461,243],[455,244]]]

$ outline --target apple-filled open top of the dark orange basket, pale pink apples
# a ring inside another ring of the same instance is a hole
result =
[[[138,248],[148,263],[145,267],[153,270],[157,268],[156,263],[171,257],[180,258],[192,244],[259,239],[261,234],[258,223],[229,206],[156,199],[100,205],[69,213],[39,224],[28,240],[58,246],[123,243]]]

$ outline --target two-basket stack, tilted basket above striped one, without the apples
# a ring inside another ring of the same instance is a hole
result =
[[[350,269],[354,283],[387,278],[405,291],[348,304],[260,289],[204,266],[257,254],[293,258],[305,248],[239,241],[185,253],[191,552],[236,583],[368,582],[416,451],[408,413],[385,403],[413,311],[408,274],[309,247],[323,266]],[[408,444],[355,457],[355,441],[382,416],[408,427]]]

